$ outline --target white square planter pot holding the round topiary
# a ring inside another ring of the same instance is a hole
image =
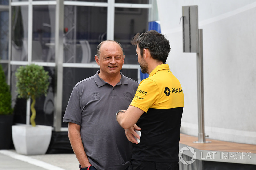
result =
[[[52,126],[13,125],[12,140],[15,150],[23,155],[45,154],[52,136]]]

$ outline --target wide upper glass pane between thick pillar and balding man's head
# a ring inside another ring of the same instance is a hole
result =
[[[64,63],[95,63],[99,43],[106,40],[107,7],[65,6]]]

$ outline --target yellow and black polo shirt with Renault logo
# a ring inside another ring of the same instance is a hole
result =
[[[184,95],[167,64],[158,65],[140,82],[130,105],[146,112],[136,123],[141,138],[139,144],[133,144],[132,159],[178,162]]]

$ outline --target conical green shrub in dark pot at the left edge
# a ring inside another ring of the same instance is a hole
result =
[[[0,64],[0,149],[10,149],[12,138],[12,96]]]

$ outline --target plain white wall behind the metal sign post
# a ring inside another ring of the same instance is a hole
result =
[[[209,138],[256,144],[256,0],[157,0],[167,59],[185,103],[181,132],[197,136],[196,53],[183,53],[182,6],[198,5],[203,29],[204,117]],[[182,23],[182,22],[181,22]]]

